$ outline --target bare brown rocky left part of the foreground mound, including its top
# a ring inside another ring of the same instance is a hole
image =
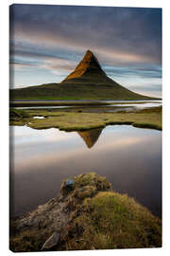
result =
[[[92,197],[99,191],[108,191],[110,188],[110,183],[105,177],[100,177],[94,173],[80,174],[73,179],[63,180],[58,196],[12,223],[11,229],[15,230],[10,230],[12,234],[10,238],[11,250],[58,249],[60,235],[63,237],[66,233],[67,224],[84,198]],[[34,249],[25,247],[25,234],[28,240],[29,237],[35,237],[37,240],[38,235],[41,237],[41,242],[35,241],[37,245],[33,247]],[[17,239],[15,239],[16,237]],[[21,245],[23,246],[21,247]]]

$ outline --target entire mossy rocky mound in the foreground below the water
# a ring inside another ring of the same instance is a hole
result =
[[[161,247],[161,220],[105,177],[64,180],[59,196],[10,225],[12,251]]]

